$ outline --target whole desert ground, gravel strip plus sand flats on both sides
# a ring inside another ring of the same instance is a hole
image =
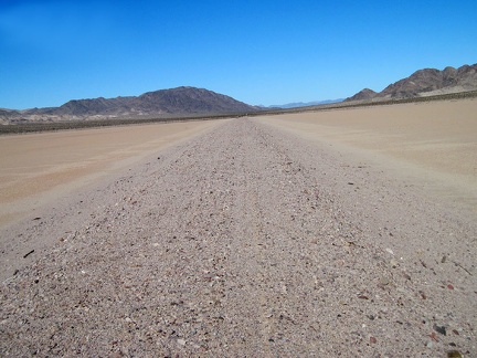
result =
[[[1,355],[476,357],[476,114],[1,137]]]

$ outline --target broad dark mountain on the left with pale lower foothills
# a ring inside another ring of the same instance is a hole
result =
[[[61,120],[168,115],[235,114],[259,110],[232,97],[204,88],[177,87],[140,96],[73,99],[60,107],[25,110],[0,109],[0,120]]]

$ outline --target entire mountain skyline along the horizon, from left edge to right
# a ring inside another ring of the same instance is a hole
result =
[[[364,88],[343,102],[379,102],[477,91],[477,64],[443,71],[424,69],[385,87],[382,92]],[[174,117],[216,114],[244,114],[263,109],[319,106],[342,102],[329,99],[284,105],[251,106],[204,88],[177,87],[147,92],[139,96],[73,99],[60,107],[24,110],[0,108],[0,124],[56,122],[72,119]]]

